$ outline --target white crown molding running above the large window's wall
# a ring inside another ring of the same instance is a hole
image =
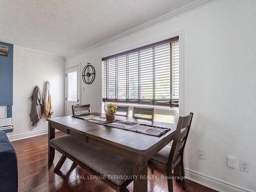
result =
[[[134,27],[132,29],[129,29],[123,33],[119,33],[113,37],[110,37],[108,39],[105,39],[105,40],[102,40],[100,41],[98,44],[94,45],[94,46],[91,46],[91,47],[88,47],[88,48],[81,48],[81,49],[76,49],[72,52],[69,52],[68,54],[66,54],[65,56],[65,59],[69,58],[69,57],[72,57],[72,56],[75,56],[75,55],[78,55],[82,52],[85,52],[87,50],[90,50],[90,49],[93,49],[93,48],[96,48],[98,46],[101,46],[101,45],[104,45],[104,44],[107,44],[108,42],[111,42],[111,41],[114,41],[116,39],[119,39],[121,37],[124,37],[124,36],[129,36],[131,35],[132,33],[136,33],[136,32],[139,32],[141,30],[144,30],[146,28],[152,28],[154,26],[157,26],[157,25],[160,25],[162,23],[165,23],[167,22],[168,20],[172,20],[176,17],[179,17],[179,16],[182,16],[190,11],[193,11],[193,10],[196,10],[196,9],[200,9],[204,6],[207,6],[213,2],[216,2],[216,1],[219,1],[219,0],[197,0],[195,2],[192,2],[190,4],[187,4],[179,9],[176,9],[172,12],[169,12],[169,13],[166,13],[160,17],[157,17],[153,20],[150,20],[149,22],[146,22],[144,24],[141,24],[137,27]]]

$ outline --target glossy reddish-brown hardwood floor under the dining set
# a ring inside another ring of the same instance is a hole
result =
[[[60,135],[63,135],[63,133],[56,133],[56,137]],[[73,164],[69,159],[65,161],[59,172],[53,173],[53,168],[56,166],[61,154],[56,151],[54,163],[48,165],[47,140],[47,135],[41,135],[12,142],[18,159],[18,191],[114,191],[100,180],[91,179],[91,174]],[[164,173],[155,170],[154,174],[152,174],[148,168],[148,176],[151,176],[152,179],[148,179],[147,181],[147,191],[168,191],[166,179],[161,180],[161,176],[165,176]],[[155,176],[157,176],[157,179]],[[133,191],[133,183],[127,188]],[[174,191],[182,192],[184,190],[178,182],[174,181]],[[215,190],[186,180],[186,191],[214,192]]]

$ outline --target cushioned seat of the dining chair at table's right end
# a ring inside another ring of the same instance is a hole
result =
[[[166,145],[165,147],[162,148],[162,150],[160,150],[156,155],[154,155],[151,160],[157,161],[159,163],[162,163],[164,165],[167,165],[168,163],[168,158],[169,158],[169,154],[170,154],[170,148],[172,148],[172,144],[173,142],[170,143],[169,145]],[[175,159],[177,159],[179,157],[179,153],[177,153],[174,157],[174,161]]]

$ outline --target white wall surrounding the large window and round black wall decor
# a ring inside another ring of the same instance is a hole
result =
[[[256,1],[222,0],[66,59],[87,62],[96,79],[82,103],[101,109],[101,57],[184,30],[184,112],[194,112],[185,150],[189,178],[222,191],[256,191]],[[198,150],[206,154],[198,159]],[[226,156],[237,168],[226,166]],[[239,170],[248,162],[249,173]],[[190,171],[189,171],[190,170]]]

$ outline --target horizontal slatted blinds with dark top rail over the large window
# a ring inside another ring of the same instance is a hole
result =
[[[179,106],[179,38],[102,58],[102,100]]]

